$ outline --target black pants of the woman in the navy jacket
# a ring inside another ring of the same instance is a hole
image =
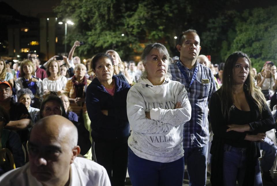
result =
[[[124,186],[127,172],[128,143],[92,139],[92,158],[108,172],[112,186]]]

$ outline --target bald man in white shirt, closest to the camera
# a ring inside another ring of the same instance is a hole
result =
[[[36,123],[28,142],[29,163],[0,177],[0,185],[110,186],[103,166],[77,157],[78,131],[68,119],[52,115]]]

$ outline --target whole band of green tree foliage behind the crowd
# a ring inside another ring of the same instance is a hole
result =
[[[200,35],[201,54],[211,55],[213,63],[241,50],[259,68],[277,57],[277,6],[257,6],[247,0],[62,0],[55,12],[75,23],[68,27],[68,40],[85,42],[76,50],[79,55],[114,49],[131,59],[148,42],[161,42],[178,55],[174,36],[192,28]]]

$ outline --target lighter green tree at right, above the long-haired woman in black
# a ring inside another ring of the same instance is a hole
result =
[[[236,25],[236,37],[230,52],[247,53],[260,69],[265,61],[277,60],[277,6],[246,10]]]

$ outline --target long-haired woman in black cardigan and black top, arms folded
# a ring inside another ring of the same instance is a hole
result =
[[[275,121],[265,97],[254,85],[251,61],[243,52],[230,55],[222,86],[210,100],[214,137],[211,146],[212,185],[262,185],[260,142]]]

